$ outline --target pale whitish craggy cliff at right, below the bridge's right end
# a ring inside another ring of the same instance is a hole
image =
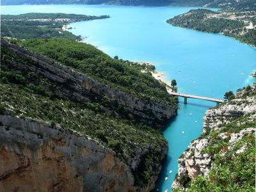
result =
[[[198,175],[208,177],[218,151],[211,148],[216,144],[214,143],[216,138],[220,139],[219,143],[221,140],[228,141],[228,144],[223,144],[221,148],[221,156],[225,156],[227,150],[232,149],[241,138],[255,133],[255,92],[256,84],[253,84],[250,90],[244,89],[237,92],[236,99],[206,111],[203,134],[192,141],[188,150],[180,156],[179,172],[172,184],[172,189],[186,188],[186,184]],[[241,128],[236,129],[236,127]],[[245,149],[246,146],[240,148],[236,154]]]

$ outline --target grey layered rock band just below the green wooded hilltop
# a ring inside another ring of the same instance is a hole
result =
[[[12,61],[9,64],[12,67],[18,70],[33,71],[47,77],[51,81],[66,84],[68,88],[63,87],[61,90],[56,90],[58,97],[88,101],[97,100],[106,95],[111,99],[115,99],[119,105],[124,106],[136,119],[152,126],[164,124],[170,117],[177,113],[177,109],[166,102],[152,98],[150,100],[138,99],[115,88],[99,83],[84,74],[70,70],[45,56],[24,49],[19,45],[10,44],[3,38],[1,38],[1,45],[30,61],[26,65]],[[4,61],[4,56],[2,60]],[[4,62],[2,65],[4,65]]]

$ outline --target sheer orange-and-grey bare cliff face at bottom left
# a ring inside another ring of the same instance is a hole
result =
[[[0,115],[0,191],[136,191],[114,152],[77,132]]]

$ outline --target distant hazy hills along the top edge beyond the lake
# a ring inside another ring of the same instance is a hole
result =
[[[1,4],[122,4],[145,6],[207,6],[228,10],[256,10],[254,0],[2,0]]]

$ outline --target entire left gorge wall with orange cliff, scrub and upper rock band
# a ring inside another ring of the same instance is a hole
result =
[[[136,98],[3,38],[1,90],[1,191],[154,188],[167,153],[159,129],[177,106]]]

